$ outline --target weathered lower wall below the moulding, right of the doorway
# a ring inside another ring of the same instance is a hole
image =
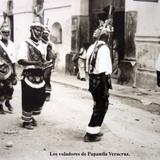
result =
[[[160,39],[156,37],[137,37],[137,87],[156,89],[155,63],[160,53]]]

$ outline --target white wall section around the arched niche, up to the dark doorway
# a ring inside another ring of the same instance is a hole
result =
[[[82,6],[81,6],[82,4]],[[58,69],[64,71],[66,54],[71,51],[71,20],[75,15],[88,15],[88,0],[45,0],[44,18],[49,27],[59,22],[62,26],[62,44],[56,44],[59,52]]]

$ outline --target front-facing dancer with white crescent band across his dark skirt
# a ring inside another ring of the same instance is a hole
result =
[[[22,120],[23,127],[34,129],[45,102],[44,71],[49,66],[45,61],[45,51],[42,46],[43,25],[38,19],[30,26],[31,36],[19,50],[18,63],[24,67],[22,73]]]

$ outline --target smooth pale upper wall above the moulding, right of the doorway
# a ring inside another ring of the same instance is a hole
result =
[[[160,1],[155,3],[126,0],[125,10],[138,12],[136,35],[160,35]]]

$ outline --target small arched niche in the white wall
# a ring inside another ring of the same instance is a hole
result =
[[[56,22],[52,25],[50,38],[55,44],[62,43],[62,27],[60,23]]]

